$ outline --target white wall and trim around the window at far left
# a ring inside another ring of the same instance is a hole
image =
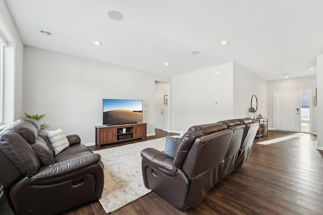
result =
[[[23,116],[23,48],[20,35],[3,0],[0,0],[0,31],[8,41],[4,48],[4,123]]]

